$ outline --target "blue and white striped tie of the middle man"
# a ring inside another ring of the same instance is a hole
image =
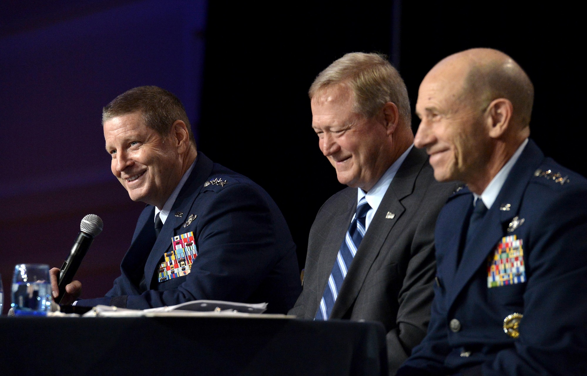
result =
[[[318,312],[316,312],[314,320],[328,320],[330,313],[332,313],[332,307],[334,307],[334,302],[340,291],[340,286],[342,286],[342,281],[345,280],[350,263],[353,262],[359,244],[361,244],[361,240],[365,236],[365,217],[369,209],[371,207],[365,197],[360,199],[359,204],[357,204],[357,212],[353,220],[350,221],[345,240],[343,240],[336,256],[336,261],[330,272],[330,277],[328,278],[328,283],[324,289],[324,294],[322,295],[322,300],[320,301],[320,306],[318,307]]]

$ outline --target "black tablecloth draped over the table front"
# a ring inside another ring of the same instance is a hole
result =
[[[0,318],[1,375],[386,375],[377,323]]]

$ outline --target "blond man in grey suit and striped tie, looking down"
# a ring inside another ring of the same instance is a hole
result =
[[[412,147],[406,86],[382,56],[343,56],[309,95],[319,146],[349,187],[316,216],[289,314],[383,323],[394,374],[426,334],[434,222],[456,185],[437,183],[426,154]]]

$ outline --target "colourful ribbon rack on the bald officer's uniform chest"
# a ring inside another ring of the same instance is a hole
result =
[[[515,235],[501,238],[487,259],[487,287],[507,286],[526,281],[522,239]]]

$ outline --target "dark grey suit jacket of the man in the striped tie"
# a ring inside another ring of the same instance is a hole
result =
[[[457,184],[434,180],[427,155],[415,147],[397,171],[340,288],[330,318],[379,321],[395,373],[419,344],[433,298],[434,223]],[[303,291],[289,314],[312,320],[357,206],[346,188],[322,206],[308,241]],[[393,219],[387,219],[387,212]]]

